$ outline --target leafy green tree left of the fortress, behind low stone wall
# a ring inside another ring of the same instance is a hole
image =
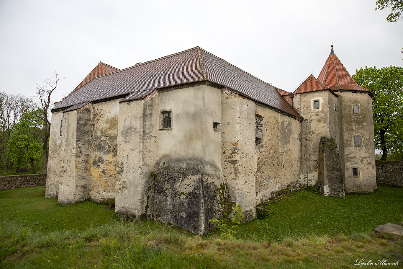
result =
[[[17,165],[29,164],[32,173],[36,173],[35,165],[43,163],[42,136],[44,121],[42,110],[25,113],[20,122],[12,128],[8,140],[8,156]]]

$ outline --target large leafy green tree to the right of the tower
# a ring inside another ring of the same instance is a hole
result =
[[[403,68],[361,67],[353,79],[374,94],[375,148],[382,150],[381,160],[388,152],[403,157]]]

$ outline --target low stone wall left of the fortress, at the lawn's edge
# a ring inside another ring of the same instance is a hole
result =
[[[8,175],[0,177],[0,190],[10,190],[24,187],[45,186],[46,175]]]

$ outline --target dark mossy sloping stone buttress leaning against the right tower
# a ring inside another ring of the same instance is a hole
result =
[[[340,154],[334,138],[322,137],[319,145],[319,179],[316,185],[324,196],[345,197]]]

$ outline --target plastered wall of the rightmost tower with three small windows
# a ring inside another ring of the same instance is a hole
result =
[[[376,189],[374,125],[372,98],[367,93],[337,92],[341,102],[339,113],[339,145],[341,165],[345,175],[345,191],[372,192]],[[359,113],[353,113],[353,105],[359,106]],[[361,136],[361,145],[354,145],[354,136]],[[358,169],[358,175],[352,174]]]

